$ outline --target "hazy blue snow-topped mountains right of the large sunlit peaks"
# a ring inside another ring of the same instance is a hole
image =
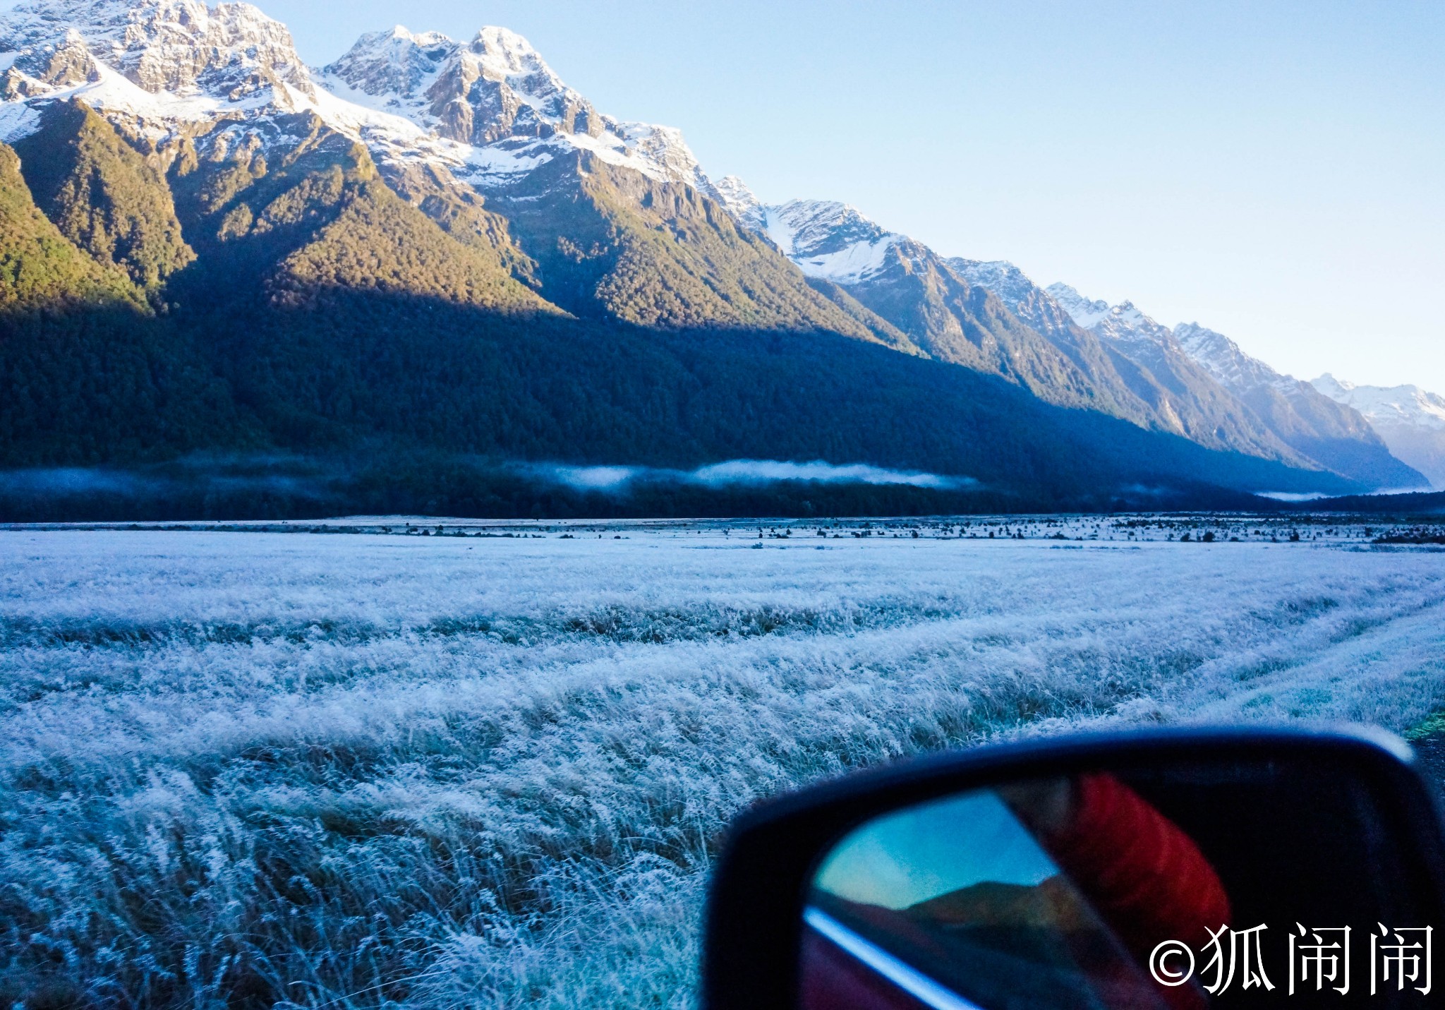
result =
[[[737,178],[724,179],[718,192],[740,224],[766,234],[806,276],[841,286],[928,354],[1001,374],[1032,370],[1048,390],[1040,394],[1069,402],[1082,393],[1095,409],[1207,445],[1311,457],[1302,439],[1280,433],[1308,425],[1261,423],[1172,329],[1133,303],[1110,306],[1068,285],[1045,290],[1003,260],[945,260],[838,201],[766,205]],[[1009,314],[1026,327],[1007,337],[990,332],[985,321]],[[981,335],[977,342],[970,340],[974,332]],[[1379,470],[1373,457],[1387,461],[1389,454],[1355,420],[1355,435],[1370,444],[1367,470]],[[1355,464],[1348,461],[1347,470],[1358,470]],[[1331,457],[1325,465],[1344,464]]]

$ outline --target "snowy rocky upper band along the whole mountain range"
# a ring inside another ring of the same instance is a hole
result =
[[[806,276],[848,288],[916,347],[1023,376],[1055,402],[1113,403],[1107,409],[1131,419],[1153,412],[1202,444],[1274,454],[1208,374],[1299,396],[1293,380],[1202,327],[1176,334],[1129,302],[1110,306],[1066,285],[1045,292],[1010,263],[944,260],[847,204],[763,205],[737,178],[714,185],[678,130],[600,113],[503,27],[483,27],[470,42],[393,27],[311,69],[285,25],[246,3],[26,0],[0,13],[0,140],[33,133],[39,110],[66,98],[84,100],[162,159],[192,142],[214,159],[236,150],[269,156],[309,133],[296,129],[298,114],[364,143],[393,181],[420,166],[442,184],[497,191],[558,157],[588,153],[694,186]],[[993,295],[1001,306],[990,303]],[[1081,340],[1082,331],[1092,337]],[[1114,374],[1116,354],[1149,374]]]

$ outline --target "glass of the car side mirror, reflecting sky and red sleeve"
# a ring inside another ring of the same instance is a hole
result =
[[[1436,909],[1371,795],[1341,769],[1182,764],[894,811],[816,868],[801,1006],[1423,1006]]]

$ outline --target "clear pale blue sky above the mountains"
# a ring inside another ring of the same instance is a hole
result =
[[[712,176],[1198,321],[1309,379],[1445,392],[1445,3],[260,0],[324,64],[526,35]]]

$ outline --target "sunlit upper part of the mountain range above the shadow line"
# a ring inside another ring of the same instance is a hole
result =
[[[842,202],[714,184],[678,130],[598,111],[503,27],[393,27],[312,69],[244,3],[26,0],[0,13],[0,182],[36,236],[56,230],[19,253],[51,250],[42,273],[72,301],[134,283],[131,302],[169,305],[175,276],[212,303],[370,292],[844,337],[980,373],[985,396],[1127,420],[1124,441],[1311,465],[1134,306],[945,260]]]

